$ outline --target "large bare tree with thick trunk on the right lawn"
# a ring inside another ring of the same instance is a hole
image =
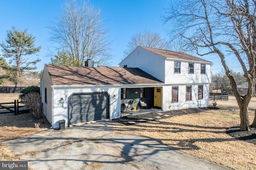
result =
[[[240,108],[240,130],[249,131],[248,104],[252,98],[256,67],[256,5],[254,0],[178,0],[167,9],[166,22],[186,38],[187,49],[198,55],[217,54]],[[176,34],[177,35],[177,34]],[[240,95],[226,57],[235,56],[248,82]]]

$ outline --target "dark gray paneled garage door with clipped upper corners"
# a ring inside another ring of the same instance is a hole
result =
[[[73,94],[69,98],[68,124],[109,119],[109,96],[106,93]]]

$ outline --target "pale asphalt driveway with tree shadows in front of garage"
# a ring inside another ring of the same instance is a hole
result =
[[[226,170],[149,138],[114,133],[117,124],[102,121],[4,143],[34,170]]]

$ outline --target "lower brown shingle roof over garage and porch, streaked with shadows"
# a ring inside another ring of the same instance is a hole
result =
[[[159,84],[139,68],[80,67],[45,64],[54,85]]]

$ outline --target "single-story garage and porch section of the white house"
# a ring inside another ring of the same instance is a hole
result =
[[[125,109],[124,103],[120,108],[121,95],[138,98],[139,102],[141,90],[147,88],[153,99],[154,87],[162,85],[139,68],[45,64],[41,80],[44,114],[52,125],[65,119],[66,126],[115,119]],[[153,102],[147,102],[148,107],[153,107]]]

